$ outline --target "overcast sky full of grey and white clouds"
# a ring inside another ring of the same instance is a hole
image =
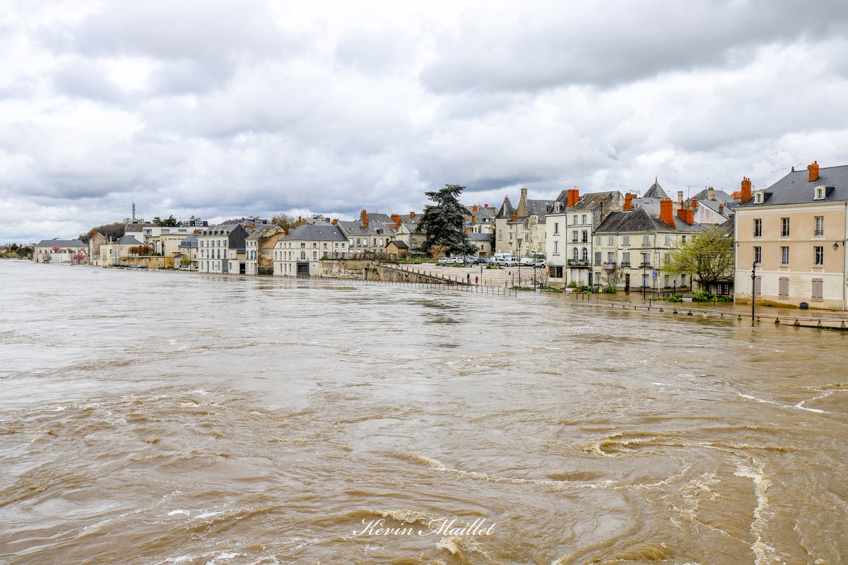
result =
[[[848,2],[0,3],[0,242],[848,163]]]

